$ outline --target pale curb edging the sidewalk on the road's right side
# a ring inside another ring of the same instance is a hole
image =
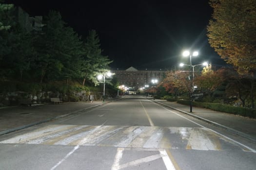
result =
[[[147,99],[148,99],[148,98],[147,98]],[[151,100],[151,99],[148,99],[148,100]],[[215,125],[215,126],[217,126],[217,127],[220,127],[220,128],[225,129],[225,130],[227,130],[227,131],[230,131],[230,132],[234,133],[235,135],[242,136],[242,137],[244,137],[244,138],[247,138],[247,139],[249,139],[249,140],[252,140],[252,141],[255,141],[255,142],[256,142],[256,138],[255,138],[255,137],[250,136],[250,135],[247,135],[247,134],[245,134],[245,133],[243,133],[243,132],[241,132],[241,131],[237,131],[236,129],[233,129],[233,128],[224,126],[224,125],[222,125],[222,124],[219,124],[219,123],[217,123],[217,122],[214,122],[214,121],[211,121],[211,120],[208,120],[208,119],[204,119],[204,118],[199,117],[199,116],[197,116],[197,115],[194,115],[194,114],[192,114],[192,113],[185,112],[185,111],[183,111],[183,110],[180,110],[180,109],[177,109],[177,108],[175,108],[175,107],[172,107],[172,106],[163,104],[163,103],[161,103],[161,102],[157,102],[157,101],[154,101],[154,100],[151,100],[151,101],[156,102],[156,103],[158,103],[158,104],[161,104],[161,105],[163,105],[163,106],[169,107],[169,108],[171,108],[171,109],[177,110],[177,111],[179,111],[179,112],[185,113],[185,114],[187,114],[187,115],[189,115],[189,116],[191,116],[191,117],[194,117],[194,118],[203,120],[203,121],[205,121],[205,122],[211,123],[211,124],[213,124],[213,125]]]

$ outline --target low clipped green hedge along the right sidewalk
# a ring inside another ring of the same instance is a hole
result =
[[[190,105],[190,101],[178,100],[178,103]],[[241,115],[244,117],[256,118],[256,109],[237,107],[221,103],[193,102],[193,106],[207,108],[219,112]]]

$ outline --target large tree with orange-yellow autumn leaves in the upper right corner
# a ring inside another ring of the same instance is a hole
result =
[[[211,47],[239,74],[251,78],[254,108],[256,73],[256,0],[210,0],[214,9],[207,27]]]

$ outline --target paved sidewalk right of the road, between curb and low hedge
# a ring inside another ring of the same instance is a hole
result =
[[[153,100],[159,104],[168,106],[197,119],[224,128],[247,139],[256,141],[256,119],[250,119],[239,115],[217,112],[210,109],[193,107],[190,113],[190,106],[179,104],[177,102],[168,102],[166,100]]]

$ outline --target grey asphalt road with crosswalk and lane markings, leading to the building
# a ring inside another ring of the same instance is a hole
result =
[[[256,153],[223,134],[131,96],[0,136],[0,170],[255,170]]]

